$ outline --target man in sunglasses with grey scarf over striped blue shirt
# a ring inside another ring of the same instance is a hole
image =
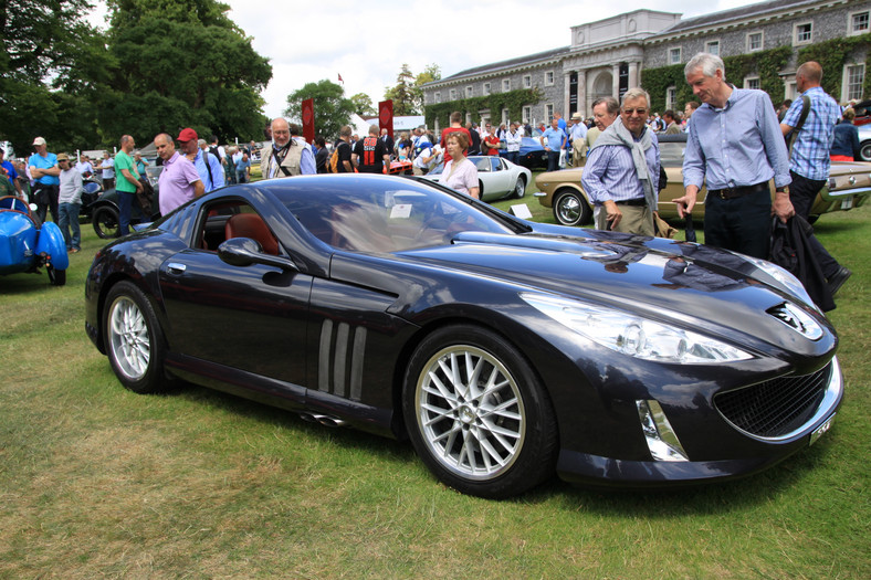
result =
[[[580,182],[599,212],[596,228],[654,235],[659,196],[659,141],[647,126],[650,97],[641,88],[623,95],[620,116],[596,139]]]

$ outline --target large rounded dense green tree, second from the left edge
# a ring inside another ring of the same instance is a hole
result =
[[[192,127],[208,138],[262,138],[267,59],[214,0],[109,0],[113,67],[99,103],[106,140]]]

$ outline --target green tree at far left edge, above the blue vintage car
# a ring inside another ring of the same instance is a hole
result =
[[[0,138],[21,155],[35,136],[53,151],[97,139],[94,78],[105,46],[86,22],[87,0],[0,1]]]

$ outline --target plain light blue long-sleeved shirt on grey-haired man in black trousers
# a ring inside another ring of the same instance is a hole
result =
[[[690,123],[683,158],[683,186],[726,189],[763,183],[774,177],[788,186],[789,157],[772,99],[762,91],[733,88],[724,108],[705,103]]]

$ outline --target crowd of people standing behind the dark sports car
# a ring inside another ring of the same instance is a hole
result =
[[[581,184],[595,207],[597,228],[655,235],[662,175],[657,135],[686,133],[685,192],[675,200],[679,215],[691,215],[705,186],[705,242],[767,259],[772,217],[783,223],[795,215],[808,220],[829,177],[830,160],[859,156],[854,113],[825,93],[822,68],[816,62],[804,63],[796,72],[800,98],[780,103],[777,109],[766,93],[726,82],[725,66],[716,55],[695,55],[684,74],[699,102],[686,103],[682,114],[672,109],[661,116],[652,113],[650,96],[638,87],[627,91],[620,103],[612,97],[597,99],[589,119],[576,113],[567,122],[555,113],[549,127],[539,126],[538,140],[547,152],[548,170],[565,167],[569,158],[573,166],[584,165]],[[454,112],[450,126],[438,138],[419,127],[393,140],[387,129],[379,131],[375,125],[359,138],[345,126],[330,151],[323,136],[309,145],[300,136],[300,127],[282,117],[273,119],[269,129],[271,143],[260,159],[263,179],[384,173],[398,160],[410,161],[416,175],[442,166],[439,180],[474,198],[480,193],[478,170],[468,157],[504,152],[516,162],[523,137],[532,134],[532,127],[521,123],[497,127],[490,122],[463,124],[461,113]],[[250,180],[253,141],[249,148],[224,148],[217,138],[207,143],[193,129],[185,128],[175,138],[160,134],[154,143],[156,162],[162,165],[160,213],[227,183]],[[120,138],[119,146],[114,158],[108,152],[95,160],[83,155],[77,162],[66,154],[49,152],[42,137],[34,139],[34,154],[27,164],[4,159],[0,150],[0,192],[34,202],[42,220],[51,212],[70,252],[77,252],[83,179],[99,176],[105,189],[118,191],[119,226],[125,234],[130,208],[147,183],[143,176],[148,161],[134,151],[129,135]],[[806,231],[808,247],[822,273],[819,284],[833,295],[851,272],[826,251],[811,230]]]

